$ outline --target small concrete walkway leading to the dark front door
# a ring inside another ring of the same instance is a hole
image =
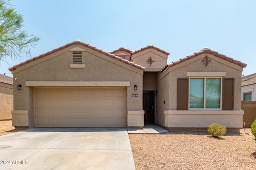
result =
[[[156,124],[145,124],[143,129],[128,129],[128,133],[159,134],[159,133],[165,133],[165,132],[169,132],[169,131]]]

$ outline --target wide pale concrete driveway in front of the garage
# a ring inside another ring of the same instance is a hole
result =
[[[0,169],[135,169],[126,129],[35,128],[0,137]]]

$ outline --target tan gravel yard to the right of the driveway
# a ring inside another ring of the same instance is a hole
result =
[[[129,134],[137,169],[256,169],[250,129],[220,139],[207,132]]]

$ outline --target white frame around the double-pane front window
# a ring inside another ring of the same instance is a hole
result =
[[[204,79],[204,108],[190,108],[190,78],[191,79]],[[209,79],[220,79],[220,108],[205,108],[206,107],[206,78]],[[188,109],[189,110],[222,110],[222,77],[189,77],[188,78]]]

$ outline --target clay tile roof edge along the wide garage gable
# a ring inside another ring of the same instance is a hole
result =
[[[118,57],[118,56],[116,56],[116,55],[114,55],[114,54],[105,52],[105,51],[103,51],[102,49],[96,48],[96,47],[94,47],[94,46],[92,46],[92,45],[83,43],[83,42],[81,42],[80,40],[76,40],[76,41],[74,41],[73,43],[68,43],[68,44],[66,44],[66,45],[64,45],[64,46],[61,46],[61,47],[59,47],[59,48],[55,48],[55,49],[51,50],[50,52],[41,54],[41,55],[36,56],[36,57],[33,57],[33,58],[31,58],[31,59],[29,59],[29,60],[27,60],[27,61],[25,61],[25,62],[22,62],[22,63],[20,63],[20,64],[14,65],[13,67],[10,67],[10,68],[9,68],[9,71],[13,71],[13,70],[15,70],[17,67],[19,67],[19,66],[21,66],[21,65],[24,65],[24,64],[33,62],[34,60],[37,60],[38,58],[42,58],[42,57],[45,57],[45,56],[47,56],[47,55],[49,55],[49,54],[58,52],[59,50],[61,50],[61,49],[63,49],[63,48],[66,48],[66,47],[69,47],[69,46],[74,45],[74,44],[79,44],[79,45],[82,45],[82,46],[91,48],[91,49],[93,49],[93,50],[96,50],[96,51],[99,52],[99,53],[105,54],[105,55],[107,55],[107,56],[109,56],[109,57],[111,57],[111,58],[115,58],[116,60],[119,60],[119,61],[122,61],[123,63],[129,64],[127,60],[124,60],[124,59],[121,60],[121,59],[122,59],[121,57]],[[141,66],[141,65],[133,65],[133,64],[129,64],[129,65],[132,65],[132,66],[134,66],[134,67],[137,67],[137,68],[139,68],[139,69],[141,69],[141,70],[145,70],[145,67],[143,67],[143,66]]]

